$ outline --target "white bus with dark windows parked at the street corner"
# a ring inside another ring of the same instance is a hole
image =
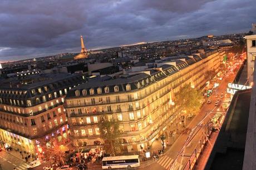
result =
[[[104,157],[102,159],[102,169],[132,168],[139,166],[139,155]]]

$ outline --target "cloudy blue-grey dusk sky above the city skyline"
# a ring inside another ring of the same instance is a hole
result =
[[[248,32],[255,0],[1,0],[0,62]]]

